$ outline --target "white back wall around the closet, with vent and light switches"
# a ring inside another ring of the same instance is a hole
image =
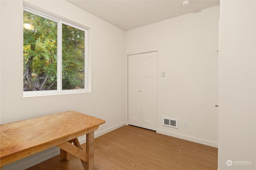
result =
[[[125,33],[126,55],[158,51],[158,133],[218,147],[219,8]],[[163,126],[162,117],[177,118],[178,129]],[[183,127],[183,121],[188,127]]]

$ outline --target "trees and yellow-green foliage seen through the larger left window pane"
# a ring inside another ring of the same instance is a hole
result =
[[[23,91],[57,89],[57,23],[23,12]]]

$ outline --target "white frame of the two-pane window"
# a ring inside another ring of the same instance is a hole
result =
[[[43,90],[43,91],[26,91],[23,92],[23,97],[30,96],[46,96],[46,95],[56,95],[56,94],[73,94],[73,93],[83,93],[88,92],[88,30],[77,26],[73,23],[66,22],[64,20],[58,19],[56,17],[50,16],[48,14],[39,12],[27,6],[23,7],[23,10],[30,12],[32,14],[38,15],[40,17],[46,18],[57,22],[57,90]],[[72,89],[72,90],[62,90],[62,23],[76,29],[84,31],[84,89]]]

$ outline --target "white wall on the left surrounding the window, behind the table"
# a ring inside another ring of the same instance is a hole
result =
[[[90,27],[91,92],[24,98],[23,2],[1,0],[0,3],[1,124],[76,110],[106,120],[96,131],[98,135],[124,125],[123,30],[64,0],[26,1],[26,4],[44,12]]]

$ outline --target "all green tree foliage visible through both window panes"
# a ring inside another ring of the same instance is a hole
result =
[[[57,22],[23,12],[23,91],[57,90]],[[84,31],[62,24],[62,90],[84,88]]]

